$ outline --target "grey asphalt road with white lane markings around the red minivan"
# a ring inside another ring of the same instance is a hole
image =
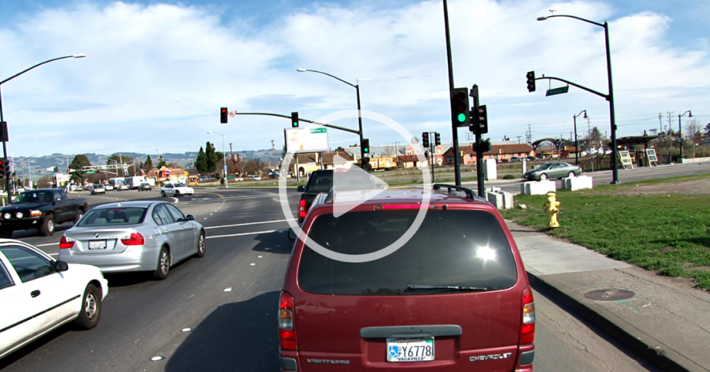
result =
[[[285,234],[288,224],[277,192],[197,191],[168,198],[205,226],[207,254],[174,267],[165,281],[109,276],[111,290],[97,328],[62,327],[0,360],[0,369],[278,371],[276,307],[293,242]],[[82,196],[92,204],[160,198],[157,191]],[[296,200],[291,191],[290,205]],[[60,235],[17,233],[15,238],[55,254]],[[536,370],[655,371],[542,294],[535,292],[535,300]]]

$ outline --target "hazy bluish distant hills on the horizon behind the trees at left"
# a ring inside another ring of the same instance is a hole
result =
[[[142,162],[146,161],[146,158],[148,155],[151,156],[151,160],[153,160],[153,164],[158,164],[158,157],[160,155],[163,155],[163,160],[165,160],[168,163],[171,163],[173,161],[177,161],[178,164],[180,164],[181,167],[185,167],[188,165],[191,165],[195,159],[197,159],[197,152],[185,152],[184,154],[173,154],[173,153],[165,153],[165,154],[140,154],[136,152],[116,152],[114,154],[85,154],[87,158],[89,158],[89,161],[91,161],[92,165],[104,165],[107,163],[109,157],[111,155],[121,155],[121,156],[129,156],[133,157],[136,159],[136,162]],[[237,152],[234,152],[234,156],[236,156]],[[52,171],[48,169],[53,169],[55,166],[59,168],[60,172],[64,172],[67,169],[67,164],[70,164],[72,160],[74,159],[74,154],[51,154],[51,155],[45,155],[45,156],[32,156],[32,157],[24,157],[24,156],[16,156],[13,161],[13,170],[16,172],[18,176],[23,176],[25,174],[28,174],[28,172],[32,171],[33,174],[51,174]],[[246,158],[246,159],[260,159],[261,161],[271,161],[272,156],[271,156],[271,149],[265,149],[265,150],[257,150],[257,151],[246,151],[246,152],[239,152],[239,156]],[[281,151],[276,150],[276,161],[280,159],[281,156]],[[229,152],[227,153],[227,157],[229,157]]]

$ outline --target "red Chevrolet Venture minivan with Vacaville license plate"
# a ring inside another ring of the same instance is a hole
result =
[[[420,228],[386,257],[342,262],[295,241],[278,305],[282,371],[532,371],[535,304],[510,230],[473,191],[434,188]],[[388,189],[335,218],[331,193],[302,229],[337,253],[375,252],[404,235],[423,194]]]

